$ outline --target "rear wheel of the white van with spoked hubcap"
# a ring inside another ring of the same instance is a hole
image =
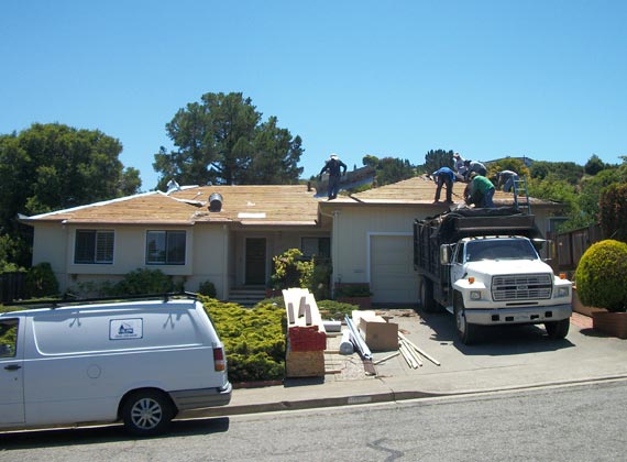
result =
[[[152,437],[164,432],[174,417],[174,406],[168,396],[155,391],[135,392],[122,407],[124,427],[139,437]]]

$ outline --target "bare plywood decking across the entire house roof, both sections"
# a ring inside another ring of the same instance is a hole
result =
[[[453,185],[453,201],[462,201],[465,184]],[[222,196],[222,209],[209,211],[209,197],[218,193]],[[68,223],[101,224],[172,224],[191,226],[201,222],[229,222],[249,226],[292,227],[318,226],[318,205],[322,204],[371,204],[411,205],[431,204],[436,195],[436,184],[425,177],[414,177],[404,182],[358,193],[351,197],[339,196],[327,202],[314,197],[315,190],[305,185],[260,185],[260,186],[200,186],[188,187],[169,195],[145,193],[136,196],[91,204],[73,209],[59,210],[35,217],[23,217],[26,223],[66,220]],[[447,198],[442,188],[440,200]],[[510,206],[510,193],[496,191],[497,206]],[[531,199],[532,206],[554,206],[554,202]]]

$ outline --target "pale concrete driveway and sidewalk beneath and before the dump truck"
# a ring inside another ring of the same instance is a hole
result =
[[[486,329],[485,342],[466,346],[454,339],[448,314],[408,316],[386,311],[399,330],[440,362],[427,359],[410,369],[402,355],[375,366],[366,375],[356,353],[326,354],[324,377],[288,378],[282,385],[234,389],[231,404],[185,417],[294,410],[383,403],[428,396],[515,389],[627,377],[627,342],[592,330],[590,318],[573,314],[569,336],[550,340],[541,326]],[[394,352],[373,352],[373,361]]]

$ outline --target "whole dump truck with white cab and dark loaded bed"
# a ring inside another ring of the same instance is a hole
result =
[[[550,338],[563,339],[572,283],[540,257],[544,243],[534,215],[516,208],[465,208],[415,220],[422,309],[453,314],[464,344],[476,342],[483,326],[543,323]]]

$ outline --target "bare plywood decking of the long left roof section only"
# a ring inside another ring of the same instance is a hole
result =
[[[210,212],[209,197],[222,196],[222,209]],[[25,218],[32,221],[68,223],[162,223],[240,222],[243,226],[314,226],[318,199],[304,185],[289,186],[202,186],[165,195],[142,194],[89,206]],[[257,218],[258,217],[258,218]],[[263,218],[262,218],[263,217]]]

